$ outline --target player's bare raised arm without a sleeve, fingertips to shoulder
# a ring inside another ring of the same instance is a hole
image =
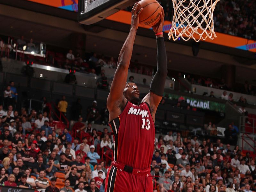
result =
[[[110,87],[110,93],[107,100],[107,108],[109,111],[109,120],[116,118],[122,112],[127,100],[123,97],[123,91],[128,75],[128,68],[132,57],[132,48],[139,26],[139,15],[142,8],[138,10],[138,3],[132,8],[132,22],[129,35],[127,36],[124,45],[120,51],[117,69]]]

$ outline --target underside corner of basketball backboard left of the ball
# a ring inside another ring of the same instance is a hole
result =
[[[77,20],[90,25],[135,4],[138,0],[79,0]]]

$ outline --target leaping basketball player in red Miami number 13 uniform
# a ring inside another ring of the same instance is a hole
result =
[[[114,162],[108,170],[107,192],[152,192],[150,164],[154,152],[155,113],[160,103],[167,75],[166,51],[163,37],[164,11],[153,26],[157,44],[157,71],[150,92],[139,99],[135,83],[126,82],[132,47],[139,25],[138,3],[132,8],[130,33],[118,58],[118,66],[108,95],[109,125],[114,134]]]

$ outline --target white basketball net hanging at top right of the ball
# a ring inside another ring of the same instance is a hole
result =
[[[213,11],[220,0],[172,0],[174,15],[168,34],[174,41],[182,38],[196,42],[216,36],[213,25]]]

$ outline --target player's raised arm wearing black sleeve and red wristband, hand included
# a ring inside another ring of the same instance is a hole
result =
[[[164,84],[167,76],[167,59],[164,45],[163,26],[164,26],[164,9],[162,8],[161,20],[154,25],[153,31],[156,35],[156,74],[154,75],[150,84],[150,92],[143,98],[141,102],[147,102],[150,106],[153,120],[155,121],[156,109],[162,100],[164,93]],[[160,35],[159,35],[160,33]]]

